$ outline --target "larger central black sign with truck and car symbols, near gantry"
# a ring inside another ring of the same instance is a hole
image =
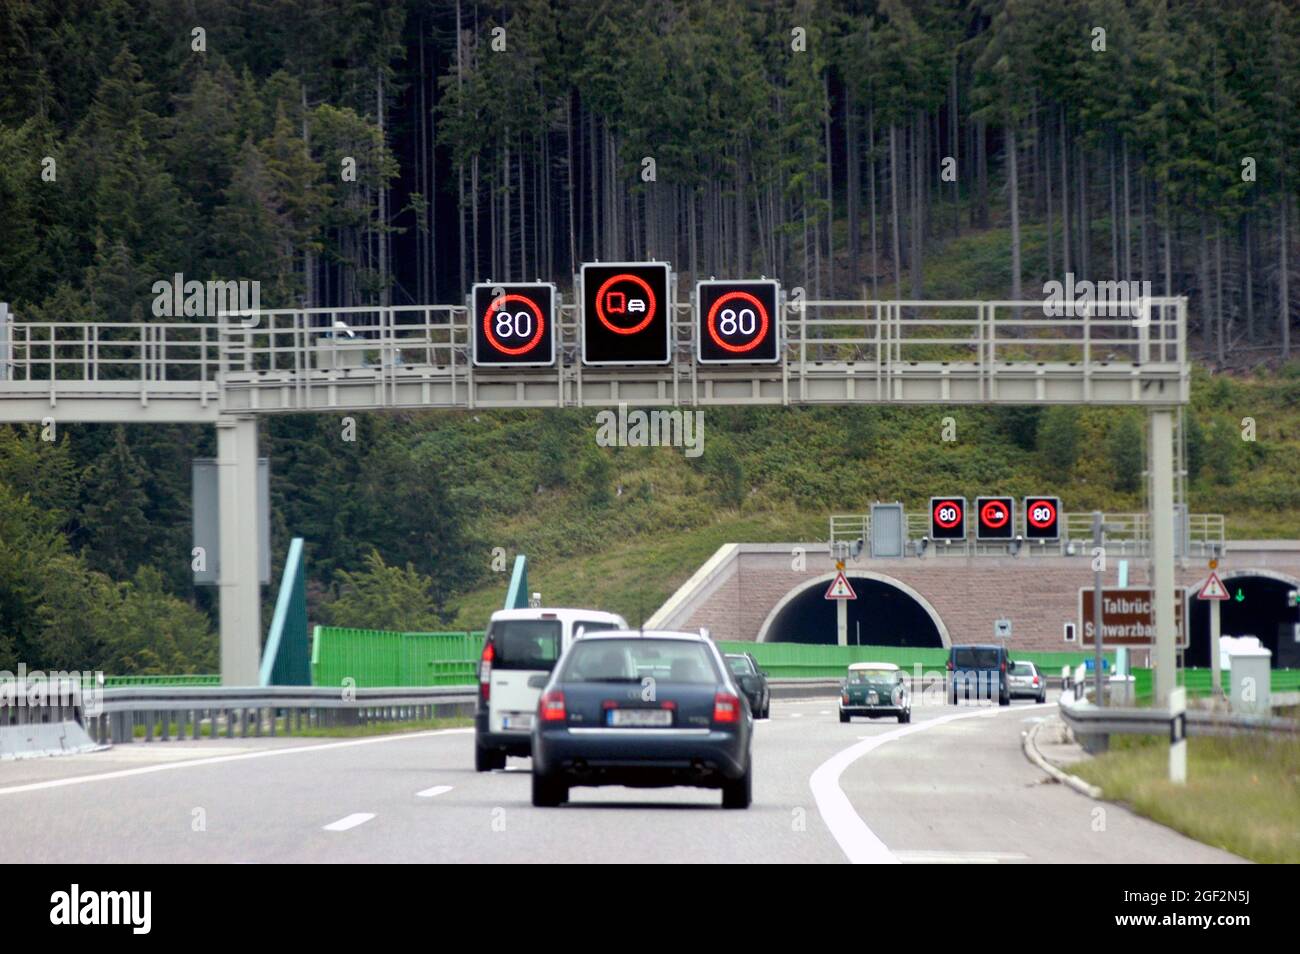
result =
[[[667,364],[668,263],[582,265],[582,364]]]

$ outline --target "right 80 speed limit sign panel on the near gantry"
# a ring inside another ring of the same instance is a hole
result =
[[[780,285],[775,281],[696,285],[696,357],[701,364],[780,360]]]

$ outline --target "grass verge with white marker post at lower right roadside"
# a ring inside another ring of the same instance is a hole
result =
[[[1253,862],[1300,862],[1300,738],[1190,738],[1187,785],[1169,781],[1169,743],[1113,736],[1071,771],[1139,815]]]

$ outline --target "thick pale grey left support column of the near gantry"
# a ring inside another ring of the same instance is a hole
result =
[[[261,655],[257,419],[217,421],[221,685],[255,686]]]

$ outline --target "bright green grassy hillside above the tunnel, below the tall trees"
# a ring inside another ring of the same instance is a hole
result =
[[[1199,370],[1191,413],[1204,461],[1190,487],[1192,511],[1226,513],[1235,538],[1300,537],[1300,368],[1240,380]],[[1031,442],[1019,409],[703,415],[705,452],[696,460],[675,448],[598,450],[593,411],[430,416],[421,422],[428,430],[417,430],[450,461],[454,485],[478,502],[485,563],[493,547],[525,552],[530,587],[547,602],[597,603],[628,619],[653,612],[722,543],[824,539],[831,512],[861,512],[872,500],[918,507],[932,494],[1057,493],[1069,511],[1144,507],[1140,481],[1138,490],[1115,489],[1106,451],[1126,416],[1141,420],[1134,411],[1080,411],[1079,456],[1065,477],[1049,455],[1022,446]],[[941,439],[945,416],[956,419],[954,442]],[[1244,417],[1256,422],[1254,442],[1240,439]],[[593,476],[593,458],[607,474],[597,465]],[[547,485],[538,474],[549,467],[556,480]],[[593,500],[593,482],[606,477],[608,498]],[[456,625],[481,625],[507,581],[498,574],[456,600]]]

